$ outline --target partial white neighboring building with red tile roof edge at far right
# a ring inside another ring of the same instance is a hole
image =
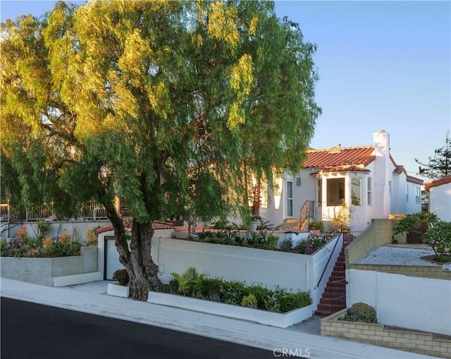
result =
[[[426,183],[424,188],[429,192],[429,211],[442,221],[451,222],[451,176]]]

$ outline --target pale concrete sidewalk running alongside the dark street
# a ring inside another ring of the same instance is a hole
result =
[[[0,286],[1,296],[7,298],[129,320],[254,346],[273,351],[275,357],[283,357],[282,353],[285,351],[287,353],[285,357],[289,353],[297,353],[318,359],[433,358],[310,334],[309,331],[317,331],[317,322],[315,324],[314,321],[310,324],[304,325],[301,323],[287,329],[281,329],[228,317],[208,315],[202,312],[106,296],[104,294],[106,293],[106,282],[70,288],[53,288],[1,278]]]

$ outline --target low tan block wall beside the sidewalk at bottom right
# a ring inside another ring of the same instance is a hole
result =
[[[350,339],[439,358],[451,358],[451,336],[387,327],[383,324],[346,322],[347,308],[321,320],[321,335]]]

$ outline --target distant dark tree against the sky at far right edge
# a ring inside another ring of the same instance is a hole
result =
[[[418,173],[433,181],[451,175],[450,131],[447,131],[445,135],[445,145],[434,151],[433,157],[429,157],[427,164],[419,162],[419,159],[415,161],[420,165]]]

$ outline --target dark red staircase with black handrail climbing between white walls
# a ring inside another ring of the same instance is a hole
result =
[[[343,248],[323,291],[323,296],[315,312],[316,315],[327,317],[346,308],[345,248],[352,242],[352,239],[351,234],[345,234]]]

